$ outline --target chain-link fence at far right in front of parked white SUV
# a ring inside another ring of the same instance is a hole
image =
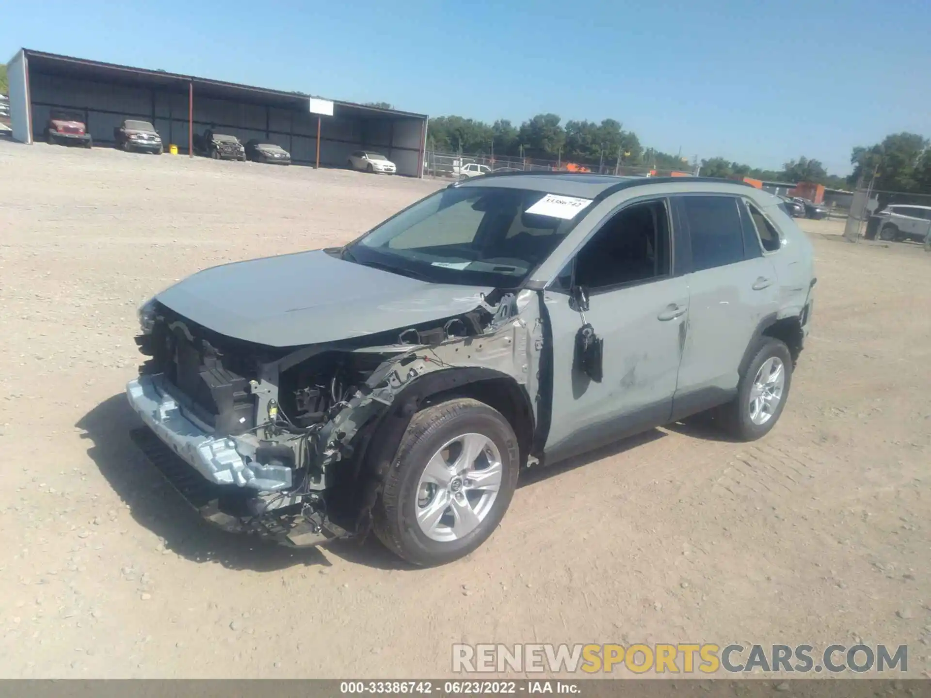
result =
[[[858,187],[843,236],[867,240],[918,242],[931,249],[931,194],[887,192]]]

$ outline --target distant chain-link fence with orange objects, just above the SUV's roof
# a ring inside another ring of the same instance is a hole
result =
[[[663,177],[672,174],[668,169],[651,169],[643,165],[627,165],[624,158],[602,158],[599,162],[572,162],[564,159],[545,160],[514,155],[455,154],[427,151],[424,157],[424,174],[427,177],[462,179],[489,172],[593,172],[595,174],[640,175]]]

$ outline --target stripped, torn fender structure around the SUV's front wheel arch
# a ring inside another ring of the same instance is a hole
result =
[[[258,414],[270,415],[271,423],[232,438],[236,450],[256,462],[262,460],[261,450],[270,446],[289,450],[292,455],[285,460],[293,463],[291,480],[296,484],[287,491],[260,492],[250,500],[252,516],[274,518],[279,530],[283,525],[287,532],[282,542],[287,544],[364,537],[385,473],[413,414],[430,400],[481,382],[497,382],[494,392],[506,389],[525,398],[530,433],[522,449],[527,452],[521,455],[533,462],[545,336],[540,303],[537,292],[522,290],[493,304],[483,302],[480,322],[475,316],[447,318],[437,329],[402,329],[396,342],[310,346],[264,364],[250,386]],[[333,388],[334,401],[319,421],[309,426],[291,422],[280,407],[285,393],[296,387],[289,380],[334,353],[341,366],[378,363],[364,381],[344,393]]]

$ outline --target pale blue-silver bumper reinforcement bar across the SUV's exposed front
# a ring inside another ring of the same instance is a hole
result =
[[[129,405],[185,463],[214,485],[274,492],[291,487],[290,468],[262,465],[236,449],[236,440],[213,436],[183,412],[161,374],[140,376],[126,386]]]

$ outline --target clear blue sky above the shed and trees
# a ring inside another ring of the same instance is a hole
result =
[[[54,19],[53,19],[54,18]],[[931,2],[7,3],[30,47],[434,116],[612,117],[645,146],[763,168],[931,136]]]

